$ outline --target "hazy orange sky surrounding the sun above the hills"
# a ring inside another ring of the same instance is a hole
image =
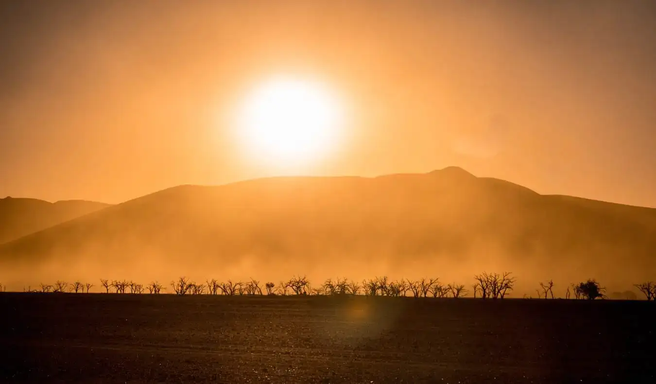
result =
[[[3,1],[0,196],[117,203],[273,175],[217,116],[329,83],[349,139],[310,175],[460,165],[656,207],[653,1]]]

